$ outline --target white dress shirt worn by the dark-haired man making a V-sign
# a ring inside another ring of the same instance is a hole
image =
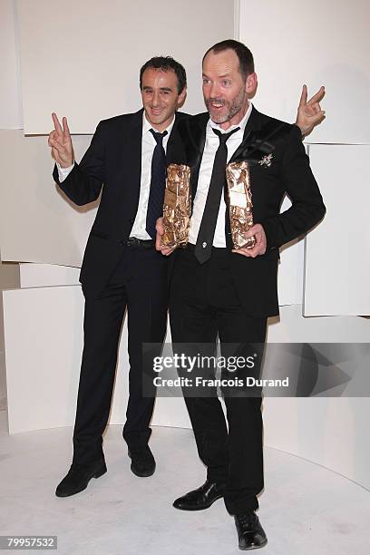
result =
[[[163,137],[163,148],[167,151],[167,143],[170,138],[170,131],[172,131],[175,118],[173,118],[170,125],[166,128],[167,135]],[[136,239],[151,239],[151,236],[145,229],[146,216],[148,210],[148,200],[149,193],[151,190],[151,159],[153,157],[153,152],[157,142],[155,141],[153,135],[151,134],[152,128],[151,123],[145,117],[145,112],[142,113],[142,138],[141,138],[141,183],[140,183],[140,196],[138,211],[136,212],[136,217],[132,225],[130,237],[136,237]],[[163,131],[162,131],[163,132]],[[73,170],[73,165],[69,168],[61,168],[57,163],[59,180],[62,182],[65,180],[67,175]],[[123,184],[122,184],[123,187]]]

